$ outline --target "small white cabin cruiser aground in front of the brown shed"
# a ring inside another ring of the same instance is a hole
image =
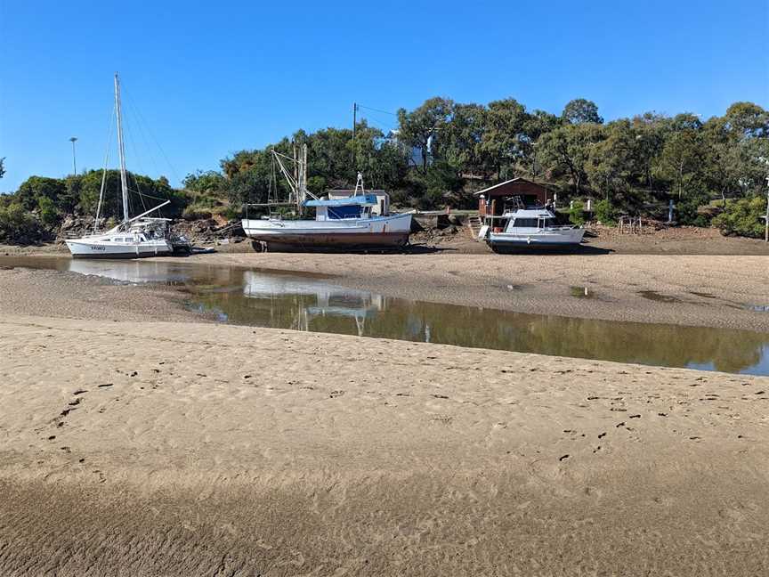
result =
[[[478,238],[485,240],[494,252],[506,252],[520,248],[577,247],[584,235],[582,227],[559,224],[549,208],[519,204],[482,226]]]

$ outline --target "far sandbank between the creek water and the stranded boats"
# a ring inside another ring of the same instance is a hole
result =
[[[769,257],[215,254],[188,264],[333,275],[391,297],[519,313],[769,331]],[[587,289],[587,295],[585,290]]]

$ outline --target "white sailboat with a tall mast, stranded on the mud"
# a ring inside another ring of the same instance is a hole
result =
[[[142,256],[170,255],[174,248],[167,238],[166,218],[151,218],[150,215],[171,201],[150,208],[133,218],[128,215],[128,184],[125,176],[125,148],[120,110],[120,80],[115,74],[115,110],[117,117],[117,152],[120,157],[120,191],[123,195],[123,222],[106,232],[99,232],[101,201],[104,198],[107,167],[101,179],[99,204],[96,207],[96,223],[93,234],[79,239],[68,239],[67,248],[73,258],[140,258]]]

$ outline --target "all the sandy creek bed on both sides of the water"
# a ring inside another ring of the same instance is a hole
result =
[[[515,276],[507,307],[586,315],[546,289],[767,296],[761,257],[553,258],[209,262],[457,302]],[[72,272],[0,270],[0,295],[2,574],[769,571],[769,378],[228,326]],[[601,308],[765,329],[686,298]]]

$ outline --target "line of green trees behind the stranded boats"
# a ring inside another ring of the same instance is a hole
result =
[[[292,156],[306,144],[308,188],[317,194],[351,186],[360,171],[368,187],[390,191],[401,207],[474,207],[474,191],[522,176],[548,183],[562,204],[601,200],[605,221],[662,215],[673,199],[678,223],[762,233],[769,112],[752,102],[735,102],[708,119],[645,112],[605,122],[585,99],[555,115],[512,98],[465,104],[436,97],[396,116],[397,130],[388,134],[363,119],[354,136],[352,128],[299,130],[262,149],[240,150],[223,158],[218,171],[188,175],[181,191],[163,177],[142,175],[130,175],[129,188],[173,199],[172,216],[235,217],[246,203],[287,193],[283,179],[273,178],[270,150]],[[32,176],[0,199],[0,211],[13,206],[55,223],[67,213],[93,212],[100,186],[101,171]],[[105,198],[106,214],[117,215],[117,171],[108,173]]]

